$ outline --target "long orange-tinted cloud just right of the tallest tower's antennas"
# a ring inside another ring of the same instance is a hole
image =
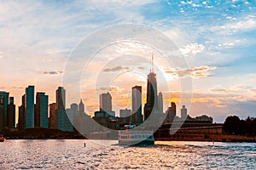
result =
[[[177,70],[177,71],[166,71],[166,73],[172,74],[173,77],[185,77],[185,76],[191,76],[194,78],[201,78],[201,77],[209,77],[212,75],[211,70],[217,69],[216,66],[208,66],[208,65],[202,65],[199,67],[195,67],[192,69],[187,70]]]

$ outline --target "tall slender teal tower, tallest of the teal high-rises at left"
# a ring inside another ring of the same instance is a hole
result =
[[[28,86],[25,95],[26,128],[34,127],[34,95],[34,86]]]

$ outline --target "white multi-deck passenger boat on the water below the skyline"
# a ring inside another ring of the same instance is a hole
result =
[[[119,130],[120,145],[153,145],[154,135],[151,131],[135,130],[134,125],[125,125],[125,130]]]

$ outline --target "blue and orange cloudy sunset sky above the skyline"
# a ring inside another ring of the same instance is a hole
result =
[[[165,111],[171,101],[179,105],[179,84],[191,77],[190,116],[212,116],[213,122],[224,122],[230,115],[256,116],[254,0],[0,2],[0,91],[14,96],[16,105],[28,85],[49,94],[49,103],[55,102],[55,89],[62,85],[67,62],[79,44],[108,26],[132,24],[165,34],[189,64],[189,68],[165,65],[163,55],[154,51],[157,77],[164,75],[167,84],[165,88],[158,81]],[[96,111],[98,95],[107,91],[113,96],[114,110],[131,108],[135,85],[143,86],[144,102],[151,54],[152,48],[135,42],[99,50],[85,69],[89,76],[85,71],[80,80],[85,111]],[[113,56],[125,60],[112,62]],[[129,63],[133,58],[138,62]],[[113,74],[107,88],[100,82],[88,85],[98,81],[93,74],[105,77],[104,73],[114,71],[121,74]],[[67,106],[72,102],[79,100],[70,99]]]

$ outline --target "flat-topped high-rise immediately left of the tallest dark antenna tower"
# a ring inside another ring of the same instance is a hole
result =
[[[132,117],[131,122],[133,124],[141,124],[143,122],[142,113],[142,87],[135,86],[131,88],[132,93]]]

